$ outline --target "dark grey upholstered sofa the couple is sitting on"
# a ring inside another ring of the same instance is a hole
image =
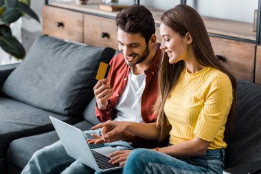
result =
[[[35,151],[59,140],[49,116],[82,131],[98,124],[95,74],[113,54],[41,36],[22,63],[0,66],[0,173],[21,173]],[[260,85],[238,81],[226,168],[261,160],[260,101]]]

